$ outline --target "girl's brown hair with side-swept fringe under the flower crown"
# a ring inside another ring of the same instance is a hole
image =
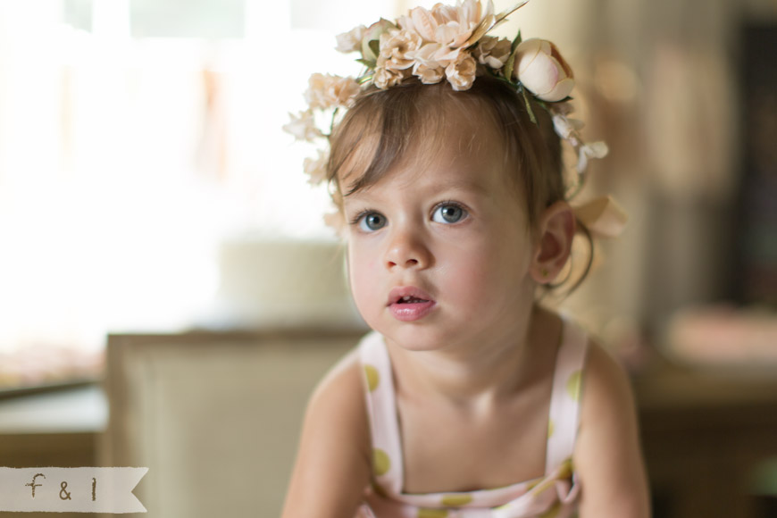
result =
[[[415,78],[385,90],[365,88],[330,137],[327,171],[335,203],[342,210],[341,196],[375,184],[418,142],[433,145],[442,135],[439,129],[447,110],[461,109],[487,117],[504,139],[510,180],[525,196],[529,223],[535,228],[547,206],[565,199],[564,164],[549,113],[529,98],[536,123],[531,121],[522,94],[489,76],[479,77],[465,91],[453,90],[445,80],[424,85]],[[353,180],[342,185],[346,178]],[[589,236],[580,222],[578,228]],[[590,261],[570,291],[577,288],[589,267]]]

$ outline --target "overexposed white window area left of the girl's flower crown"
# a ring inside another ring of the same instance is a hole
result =
[[[0,365],[195,322],[224,238],[331,238],[280,127],[393,4],[0,2]]]

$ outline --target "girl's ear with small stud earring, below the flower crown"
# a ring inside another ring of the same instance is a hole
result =
[[[574,233],[574,213],[566,202],[558,201],[540,215],[531,262],[531,277],[539,284],[552,282],[564,268],[572,250]]]

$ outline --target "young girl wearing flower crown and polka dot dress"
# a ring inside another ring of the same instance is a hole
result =
[[[576,226],[618,222],[564,196],[561,141],[579,173],[604,148],[566,117],[555,46],[486,35],[506,14],[464,0],[342,35],[366,71],[313,76],[287,127],[330,144],[305,169],[373,332],[313,394],[284,518],[648,516],[626,376],[535,297]]]

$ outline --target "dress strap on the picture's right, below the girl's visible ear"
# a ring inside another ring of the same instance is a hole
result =
[[[554,472],[574,452],[580,422],[582,372],[588,351],[585,331],[568,317],[562,318],[562,341],[556,355],[547,423],[546,474]]]

